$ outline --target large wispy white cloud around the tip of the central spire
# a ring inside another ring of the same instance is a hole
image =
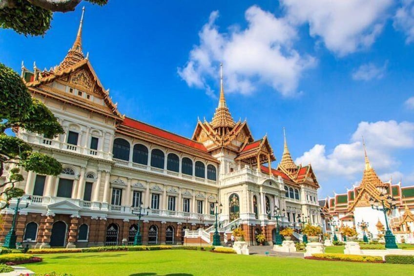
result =
[[[302,72],[316,61],[302,56],[292,46],[297,39],[294,27],[258,6],[245,13],[245,29],[232,26],[220,32],[212,12],[199,32],[200,42],[190,51],[189,60],[178,74],[190,87],[210,91],[209,80],[218,80],[218,65],[223,62],[226,90],[249,94],[268,85],[284,96],[296,93]]]

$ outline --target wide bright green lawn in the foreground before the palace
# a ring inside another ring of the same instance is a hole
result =
[[[41,263],[25,264],[36,275],[55,271],[73,276],[149,275],[406,275],[412,265],[306,260],[235,255],[190,250],[71,253],[40,255]]]

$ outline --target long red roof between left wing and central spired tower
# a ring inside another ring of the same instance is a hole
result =
[[[169,140],[169,141],[172,141],[172,142],[175,142],[175,143],[178,143],[178,144],[181,144],[181,145],[193,148],[193,149],[198,149],[198,150],[207,152],[206,147],[204,147],[204,145],[201,143],[198,143],[196,141],[185,138],[183,136],[168,132],[161,128],[153,127],[143,122],[133,120],[131,118],[125,117],[124,121],[122,122],[122,125],[164,138],[166,140]]]

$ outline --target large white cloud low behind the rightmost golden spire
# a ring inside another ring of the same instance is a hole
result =
[[[311,163],[319,182],[327,185],[335,183],[338,177],[345,177],[349,181],[360,180],[364,170],[362,136],[373,168],[390,173],[399,165],[393,152],[414,148],[414,123],[361,122],[349,143],[339,144],[331,152],[327,152],[325,145],[317,144],[295,161],[303,165]]]

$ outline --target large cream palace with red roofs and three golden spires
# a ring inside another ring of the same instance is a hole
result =
[[[275,207],[284,211],[279,220],[284,226],[298,230],[304,217],[322,225],[311,165],[293,162],[285,138],[281,162],[271,169],[276,158],[267,136],[255,140],[246,121],[233,120],[222,77],[211,122],[196,122],[191,138],[123,116],[83,54],[82,24],[83,15],[59,65],[43,71],[22,66],[29,92],[55,114],[65,133],[49,139],[16,132],[63,166],[58,176],[24,174],[18,187],[32,199],[18,215],[18,242],[37,248],[131,244],[141,202],[148,212],[140,224],[143,244],[181,244],[185,229],[211,243],[215,204],[223,206],[222,241],[240,226],[249,244],[259,233],[271,243]],[[3,210],[2,240],[15,204]]]

